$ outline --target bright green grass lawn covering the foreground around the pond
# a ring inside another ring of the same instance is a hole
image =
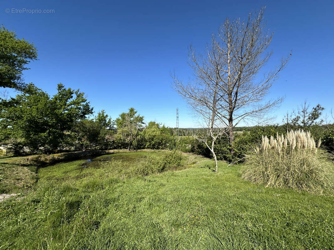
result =
[[[215,174],[190,154],[183,170],[134,178],[103,164],[163,154],[39,169],[30,192],[0,202],[0,249],[334,249],[333,196],[265,188],[224,162]]]

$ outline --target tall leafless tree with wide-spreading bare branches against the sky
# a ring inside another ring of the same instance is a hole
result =
[[[212,34],[204,56],[197,56],[190,46],[189,64],[195,81],[184,84],[174,75],[174,89],[188,104],[196,112],[200,107],[209,109],[214,113],[212,120],[219,120],[228,129],[231,154],[233,128],[241,121],[265,121],[266,113],[283,101],[282,97],[269,101],[265,97],[290,56],[258,77],[273,54],[267,52],[273,33],[264,32],[264,10],[263,7],[255,15],[250,13],[246,21],[226,19],[218,34]]]

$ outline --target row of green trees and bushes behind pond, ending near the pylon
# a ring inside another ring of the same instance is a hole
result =
[[[79,90],[58,84],[57,94],[29,84],[15,98],[1,99],[0,142],[14,149],[50,153],[57,150],[152,148],[175,145],[172,130],[156,122],[144,123],[134,108],[112,120],[104,110],[95,117]]]

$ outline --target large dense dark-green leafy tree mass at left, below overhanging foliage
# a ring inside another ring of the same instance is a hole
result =
[[[2,100],[0,123],[10,131],[10,137],[32,151],[41,147],[46,152],[52,151],[78,120],[92,113],[93,108],[83,92],[66,89],[62,84],[58,84],[57,90],[50,98],[46,92],[29,84],[23,94]]]

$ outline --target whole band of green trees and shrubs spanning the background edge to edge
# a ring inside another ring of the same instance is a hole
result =
[[[216,159],[238,161],[254,150],[262,135],[285,134],[293,129],[311,131],[315,140],[322,139],[325,149],[334,150],[334,125],[324,124],[321,119],[324,108],[320,104],[311,108],[307,100],[297,110],[288,112],[281,125],[236,127],[234,124],[231,144],[231,126],[225,133],[220,133],[222,131],[217,126],[196,129],[168,128],[154,121],[146,124],[144,116],[137,114],[134,108],[121,113],[115,120],[105,110],[92,117],[93,107],[80,90],[65,88],[60,83],[57,93],[49,96],[34,84],[24,83],[22,71],[28,69],[31,60],[37,59],[37,50],[32,43],[18,39],[14,32],[0,27],[0,48],[0,86],[18,91],[11,98],[5,91],[1,93],[0,142],[11,145],[14,154],[179,149],[212,157],[213,152],[207,145],[214,139]],[[215,121],[214,117],[212,119]],[[206,137],[205,143],[191,136],[208,130],[212,136]]]

